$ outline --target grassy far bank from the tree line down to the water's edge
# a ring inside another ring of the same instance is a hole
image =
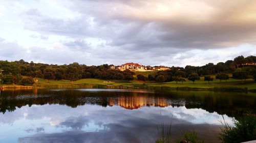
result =
[[[235,92],[256,92],[256,83],[252,79],[248,79],[245,84],[241,84],[241,80],[229,79],[227,82],[220,80],[207,81],[198,80],[178,82],[155,83],[148,81],[125,81],[125,80],[102,80],[95,78],[80,79],[77,81],[69,80],[48,80],[38,79],[39,81],[33,85],[33,88],[99,88],[99,89],[145,89],[145,90],[209,90],[209,91],[235,91]],[[1,85],[5,88],[24,88],[21,85]]]

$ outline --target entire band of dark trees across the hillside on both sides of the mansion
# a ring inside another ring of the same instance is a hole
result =
[[[256,56],[250,55],[244,58],[243,55],[228,60],[225,63],[218,64],[208,63],[204,66],[186,66],[172,67],[168,71],[159,71],[155,76],[137,75],[139,80],[149,80],[157,82],[168,81],[185,81],[186,79],[195,81],[199,80],[200,76],[205,76],[206,81],[211,81],[208,75],[217,74],[216,78],[220,80],[227,80],[226,73],[233,73],[232,77],[241,79],[245,82],[247,78],[253,77],[256,79],[256,68],[242,67],[245,63],[256,63]],[[25,62],[24,60],[8,62],[0,61],[0,79],[5,84],[23,84],[31,85],[34,82],[33,78],[44,78],[53,80],[70,80],[75,81],[82,78],[100,78],[100,79],[118,79],[118,80],[134,80],[135,73],[130,70],[120,71],[112,70],[108,64],[100,66],[87,66],[78,63],[69,65],[49,65],[42,63],[34,63],[33,61]]]

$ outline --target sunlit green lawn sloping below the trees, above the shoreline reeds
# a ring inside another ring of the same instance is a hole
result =
[[[103,81],[113,81],[113,82],[103,82]],[[69,80],[50,80],[50,83],[48,83],[48,80],[46,79],[39,79],[38,85],[78,85],[78,84],[105,84],[105,85],[142,85],[145,83],[146,85],[153,85],[153,86],[168,86],[168,87],[190,87],[190,88],[214,88],[214,87],[239,87],[239,88],[248,88],[250,89],[256,89],[256,83],[252,79],[247,79],[245,84],[241,84],[241,80],[238,79],[229,79],[227,82],[222,80],[215,79],[214,81],[210,81],[208,84],[208,81],[203,81],[203,78],[200,80],[196,80],[193,84],[192,81],[185,81],[178,82],[176,84],[175,81],[172,82],[164,82],[164,83],[152,83],[152,82],[143,82],[143,81],[125,81],[125,80],[103,80],[103,79],[95,79],[95,78],[86,78],[86,79],[80,79],[77,81],[73,81],[73,83]]]

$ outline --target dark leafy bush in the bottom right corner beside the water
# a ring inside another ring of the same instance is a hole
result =
[[[224,118],[223,118],[224,119]],[[256,117],[244,116],[234,121],[234,126],[221,122],[220,139],[225,143],[245,142],[256,139]]]

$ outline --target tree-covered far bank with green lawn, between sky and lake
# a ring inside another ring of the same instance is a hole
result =
[[[48,65],[30,63],[24,60],[0,61],[0,86],[6,84],[33,85],[34,88],[84,88],[97,85],[101,88],[115,86],[168,87],[184,89],[255,88],[256,66],[243,63],[256,62],[256,56],[238,56],[225,63],[206,64],[195,67],[172,67],[167,71],[132,72],[111,70],[109,65],[87,66],[73,63],[69,65]],[[223,81],[224,80],[224,81]],[[253,81],[254,80],[254,81]],[[145,89],[147,89],[145,88]]]

